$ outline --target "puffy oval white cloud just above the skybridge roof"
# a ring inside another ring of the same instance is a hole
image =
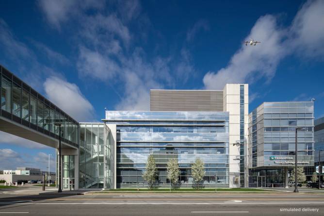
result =
[[[89,121],[94,118],[94,107],[82,95],[79,87],[58,77],[49,77],[44,83],[49,100],[78,121]]]

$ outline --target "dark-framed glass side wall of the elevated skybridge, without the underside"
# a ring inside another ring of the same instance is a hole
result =
[[[78,147],[79,123],[65,112],[0,66],[0,115],[32,130],[59,138],[60,122],[62,141]]]

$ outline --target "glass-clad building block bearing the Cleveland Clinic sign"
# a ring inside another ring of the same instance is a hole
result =
[[[250,187],[284,186],[283,168],[294,166],[297,127],[302,128],[297,136],[298,165],[314,166],[313,116],[313,102],[264,102],[250,113]],[[268,179],[262,179],[261,174]]]

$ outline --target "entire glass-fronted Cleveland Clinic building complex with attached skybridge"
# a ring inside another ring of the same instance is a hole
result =
[[[314,156],[315,166],[319,152],[324,161],[324,118],[314,127],[313,102],[264,102],[249,114],[248,84],[153,89],[151,111],[106,111],[100,123],[77,122],[3,66],[0,95],[1,131],[56,149],[62,138],[63,189],[71,182],[76,189],[146,187],[149,154],[160,187],[170,186],[166,164],[171,158],[178,159],[178,186],[192,187],[197,157],[205,163],[204,187],[282,187],[294,166],[297,127],[298,165],[308,179],[315,171]],[[57,157],[57,172],[58,167]]]

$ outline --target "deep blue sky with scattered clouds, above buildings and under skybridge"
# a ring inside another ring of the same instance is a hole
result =
[[[148,110],[149,89],[224,83],[249,84],[250,111],[314,97],[324,116],[324,1],[0,4],[0,64],[79,121],[99,121],[105,107]],[[0,169],[45,169],[54,154],[5,133],[0,151]]]

